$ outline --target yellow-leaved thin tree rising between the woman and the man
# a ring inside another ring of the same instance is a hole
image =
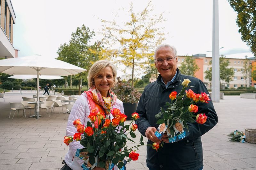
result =
[[[112,48],[116,61],[124,64],[126,69],[131,69],[132,86],[135,71],[145,69],[145,65],[149,64],[148,57],[153,58],[155,47],[165,39],[162,28],[157,27],[158,23],[164,21],[163,15],[153,15],[152,11],[153,7],[149,3],[136,14],[131,3],[128,11],[130,20],[124,21],[123,25],[118,25],[116,20],[102,20],[105,24],[103,34],[107,37],[105,43]],[[116,43],[119,47],[113,48]]]

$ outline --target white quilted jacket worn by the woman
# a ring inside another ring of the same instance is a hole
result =
[[[116,99],[116,102],[112,105],[112,108],[118,108],[120,109],[121,113],[124,113],[123,102],[119,99]],[[90,121],[90,119],[87,117],[89,116],[90,111],[87,95],[86,93],[82,93],[81,96],[77,98],[68,117],[66,136],[73,136],[77,132],[76,127],[73,125],[74,120],[80,119],[81,124],[84,125],[87,124],[87,121]],[[110,118],[112,119],[113,116],[111,115]],[[82,149],[84,147],[80,145],[79,141],[73,141],[68,146],[69,150],[65,157],[66,164],[73,170],[83,170],[81,166],[84,164],[84,160],[79,159],[75,156],[75,154],[77,149]],[[115,166],[114,169],[118,169],[117,166]]]

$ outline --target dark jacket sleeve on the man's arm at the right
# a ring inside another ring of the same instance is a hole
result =
[[[209,94],[206,89],[204,83],[200,80],[198,85],[194,87],[195,93],[205,92]],[[211,97],[209,97],[211,99]],[[200,137],[212,129],[218,122],[217,113],[213,107],[212,100],[208,101],[209,103],[198,102],[196,105],[198,106],[198,112],[196,114],[204,114],[207,116],[207,120],[204,124],[198,124],[197,122],[188,123],[189,136],[186,139],[194,139],[196,137]]]

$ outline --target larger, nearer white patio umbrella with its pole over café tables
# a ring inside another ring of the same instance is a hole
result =
[[[86,71],[86,69],[42,55],[0,60],[0,72],[2,73],[10,75],[37,75],[37,119],[39,118],[39,74],[68,76],[75,75],[83,71]]]

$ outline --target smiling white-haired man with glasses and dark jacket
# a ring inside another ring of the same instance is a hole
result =
[[[197,122],[188,123],[189,136],[184,139],[169,143],[167,134],[158,139],[154,134],[158,125],[155,115],[160,107],[166,109],[165,103],[170,102],[169,94],[172,91],[179,93],[182,89],[181,82],[189,78],[193,86],[191,90],[196,93],[209,93],[204,83],[198,78],[182,75],[177,68],[177,51],[168,44],[162,44],[155,51],[155,65],[160,73],[157,81],[150,83],[144,89],[136,112],[140,118],[136,121],[140,133],[147,137],[148,144],[165,142],[158,152],[147,146],[147,166],[150,170],[200,170],[203,168],[203,148],[201,136],[217,124],[218,117],[212,101],[209,103],[196,103],[198,113],[208,116],[204,124]]]

